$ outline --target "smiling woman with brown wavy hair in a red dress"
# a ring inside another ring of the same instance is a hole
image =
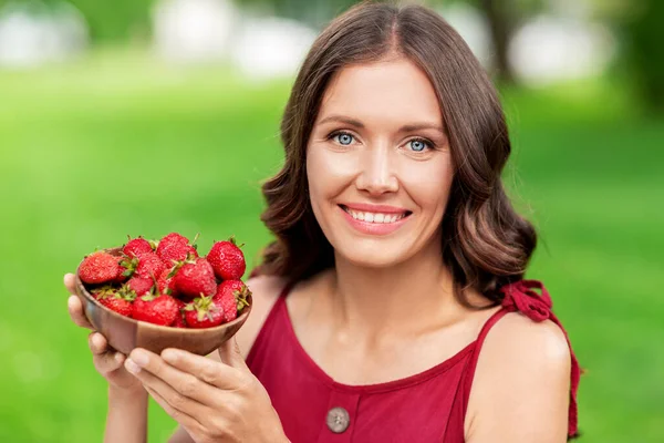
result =
[[[573,436],[579,368],[522,280],[536,234],[504,192],[504,114],[461,38],[423,7],[351,9],[314,42],[281,133],[262,217],[278,240],[237,342],[125,358],[91,334],[106,441],[145,440],[147,393],[180,424],[172,442]]]

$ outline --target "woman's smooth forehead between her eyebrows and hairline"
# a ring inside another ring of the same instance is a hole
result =
[[[343,114],[367,124],[430,122],[442,125],[438,96],[415,63],[398,58],[340,70],[323,95],[319,120]]]

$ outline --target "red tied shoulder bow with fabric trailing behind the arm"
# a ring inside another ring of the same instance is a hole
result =
[[[539,293],[537,292],[539,290]],[[577,392],[579,390],[579,381],[581,379],[581,371],[579,369],[579,362],[572,350],[570,338],[562,327],[560,320],[552,312],[551,297],[544,288],[544,286],[537,280],[519,280],[510,285],[506,285],[500,288],[500,292],[505,296],[502,299],[502,310],[508,312],[519,311],[530,318],[532,321],[544,321],[551,320],[562,330],[564,338],[570,347],[570,354],[572,357],[571,368],[571,387],[570,387],[570,410],[568,418],[568,437],[572,439],[578,436],[578,405],[577,405]]]

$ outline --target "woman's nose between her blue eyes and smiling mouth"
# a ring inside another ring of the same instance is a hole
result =
[[[380,196],[398,190],[398,181],[391,162],[391,150],[387,146],[375,146],[363,152],[361,173],[355,181],[357,189]]]

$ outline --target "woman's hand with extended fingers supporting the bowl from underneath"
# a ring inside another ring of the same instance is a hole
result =
[[[125,368],[197,443],[288,442],[270,398],[245,364],[235,338],[221,362],[183,350],[134,349]]]

